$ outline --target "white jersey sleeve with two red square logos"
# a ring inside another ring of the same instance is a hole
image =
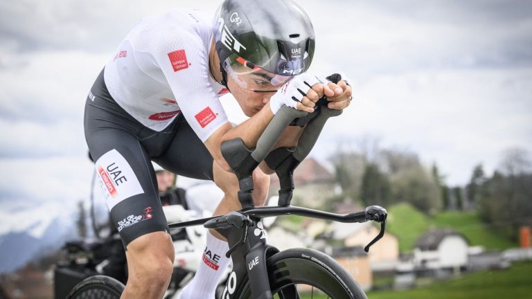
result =
[[[160,28],[151,53],[174,94],[181,113],[202,142],[228,122],[209,80],[209,55],[193,27]]]

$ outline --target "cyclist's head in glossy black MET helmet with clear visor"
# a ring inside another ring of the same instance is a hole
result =
[[[245,89],[276,89],[308,70],[314,28],[292,0],[225,0],[214,19],[220,71]]]

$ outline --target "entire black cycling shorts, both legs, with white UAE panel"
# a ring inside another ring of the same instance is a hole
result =
[[[110,96],[103,71],[85,104],[85,139],[124,246],[168,232],[150,161],[178,175],[213,179],[213,158],[182,115],[162,132],[145,127]]]

